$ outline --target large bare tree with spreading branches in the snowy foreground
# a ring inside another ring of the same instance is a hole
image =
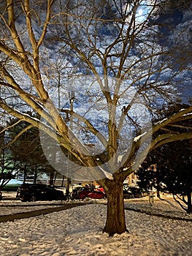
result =
[[[192,107],[151,122],[162,104],[178,99],[190,48],[182,55],[177,43],[162,43],[159,1],[126,2],[7,0],[0,6],[1,115],[28,122],[26,129],[39,127],[42,144],[45,134],[55,140],[52,164],[61,172],[65,148],[69,178],[104,187],[110,234],[126,231],[126,177],[152,149],[192,138],[191,127],[172,129],[191,118]],[[61,97],[68,94],[66,108]],[[53,146],[43,148],[48,158]]]

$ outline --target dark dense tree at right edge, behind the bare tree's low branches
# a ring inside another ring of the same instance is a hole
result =
[[[164,109],[163,115],[167,118],[187,107],[187,105],[174,104],[168,110]],[[174,126],[174,132],[180,132],[181,127],[191,129],[191,120],[184,123],[178,122]],[[191,213],[191,150],[191,140],[178,140],[155,148],[148,154],[147,159],[137,171],[140,180],[139,187],[148,188],[150,184],[155,184],[157,189],[171,192],[174,200],[185,211]],[[161,183],[165,187],[161,187]]]

